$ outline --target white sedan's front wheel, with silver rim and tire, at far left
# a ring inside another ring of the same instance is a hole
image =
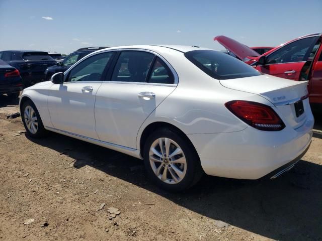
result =
[[[39,112],[31,100],[23,103],[21,118],[28,136],[40,138],[45,136],[46,130],[42,124]]]

